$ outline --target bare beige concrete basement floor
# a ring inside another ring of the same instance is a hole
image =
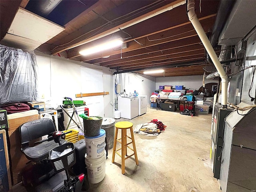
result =
[[[112,164],[112,149],[108,150],[106,176],[90,184],[88,192],[221,192],[210,164],[211,115],[191,117],[148,108],[146,114],[128,121],[135,128],[153,119],[167,128],[155,137],[134,134],[139,166],[128,158],[122,175],[121,158],[116,154]],[[120,120],[127,121],[116,122]],[[19,184],[14,191],[26,191],[22,188]]]

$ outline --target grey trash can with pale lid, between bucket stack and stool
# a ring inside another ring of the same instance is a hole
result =
[[[113,118],[103,118],[101,128],[106,131],[108,150],[113,148],[115,135],[115,120]]]

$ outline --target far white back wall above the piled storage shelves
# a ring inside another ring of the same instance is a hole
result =
[[[205,78],[206,83],[218,83],[218,80],[208,80]],[[158,77],[156,78],[156,89],[159,89],[160,85],[172,85],[175,89],[176,85],[183,85],[186,89],[198,90],[203,85],[203,76],[177,76],[177,77]]]

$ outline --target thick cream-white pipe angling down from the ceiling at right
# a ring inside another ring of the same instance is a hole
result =
[[[216,67],[218,73],[221,77],[221,105],[223,107],[226,107],[228,104],[227,96],[228,96],[228,76],[226,75],[226,72],[224,71],[224,68],[220,64],[220,61],[212,48],[212,45],[207,38],[204,29],[202,28],[202,25],[200,24],[196,13],[195,13],[195,2],[194,0],[188,0],[188,18],[192,25],[194,26],[200,40],[202,41],[206,51],[208,52],[210,58],[212,59],[212,62],[214,66]]]

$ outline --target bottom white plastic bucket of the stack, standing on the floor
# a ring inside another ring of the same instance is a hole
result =
[[[106,151],[104,150],[104,155],[98,159],[88,158],[85,154],[85,164],[87,167],[88,180],[92,184],[101,182],[105,177],[105,161],[106,161]]]

